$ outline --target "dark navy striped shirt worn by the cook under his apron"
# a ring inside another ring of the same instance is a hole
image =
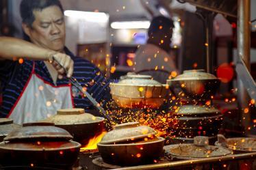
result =
[[[102,72],[94,66],[90,61],[77,57],[68,50],[64,48],[65,53],[74,61],[74,72],[73,76],[79,83],[86,87],[89,94],[100,102],[103,106],[108,100],[110,100],[110,81],[105,79]],[[0,61],[0,92],[2,97],[2,103],[0,106],[0,117],[7,117],[18,99],[21,95],[23,88],[25,87],[29,75],[33,69],[33,64],[35,63],[35,72],[44,79],[45,82],[50,83],[54,86],[51,75],[47,70],[47,66],[44,61],[32,61],[24,59],[23,63],[18,61],[4,60]],[[57,79],[57,86],[67,85],[68,79]],[[72,95],[76,108],[84,108],[86,110],[93,109],[93,105],[84,97],[76,87],[72,86]]]

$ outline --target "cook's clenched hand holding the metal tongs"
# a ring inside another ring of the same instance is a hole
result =
[[[68,78],[72,76],[74,70],[74,61],[69,55],[64,53],[55,53],[49,57],[49,61],[57,70],[59,79],[62,79],[65,74]]]

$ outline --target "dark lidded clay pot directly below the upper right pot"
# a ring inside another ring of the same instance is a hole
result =
[[[223,115],[214,107],[184,105],[179,107],[172,117],[173,122],[177,124],[172,127],[175,139],[181,138],[185,143],[191,143],[195,136],[204,135],[210,137],[212,143],[213,140],[216,141],[214,138],[222,124]]]

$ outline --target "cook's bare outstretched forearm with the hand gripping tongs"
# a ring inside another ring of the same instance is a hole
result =
[[[53,61],[54,59],[58,61],[64,68]],[[73,60],[70,56],[64,53],[58,53],[50,49],[42,48],[21,40],[18,38],[0,37],[0,59],[13,60],[14,58],[25,58],[33,60],[43,60],[43,61],[53,61],[51,62],[58,74],[64,74],[64,69],[67,70],[66,74],[68,77],[73,74]]]

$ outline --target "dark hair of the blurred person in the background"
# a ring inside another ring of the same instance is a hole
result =
[[[151,24],[149,26],[148,35],[151,36],[158,32],[166,32],[170,31],[174,27],[173,21],[170,18],[166,18],[165,16],[156,16],[151,20]]]

